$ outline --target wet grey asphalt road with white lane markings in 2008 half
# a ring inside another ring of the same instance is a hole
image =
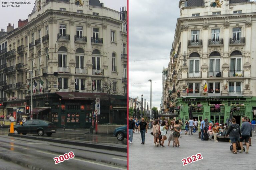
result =
[[[16,138],[7,134],[5,130],[0,129],[0,170],[127,169],[127,153]],[[80,136],[82,134],[75,135],[77,138],[83,138]],[[65,136],[67,137],[69,135]],[[89,137],[87,136],[87,138]],[[100,138],[103,138],[103,136]],[[56,165],[54,164],[54,157],[70,151],[74,152],[75,157],[73,159],[65,160]]]

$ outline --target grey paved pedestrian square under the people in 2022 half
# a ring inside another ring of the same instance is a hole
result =
[[[166,169],[176,170],[233,170],[233,169],[251,169],[256,170],[256,136],[252,137],[252,146],[249,148],[249,154],[230,151],[229,142],[214,142],[214,140],[202,141],[198,138],[198,132],[193,135],[185,135],[182,130],[180,148],[167,146],[168,140],[165,140],[166,147],[156,147],[153,143],[151,130],[145,135],[145,144],[141,144],[140,133],[133,133],[133,143],[129,143],[129,170],[147,169]],[[167,139],[169,137],[169,131]],[[245,147],[245,146],[244,146]],[[245,147],[246,148],[246,147]],[[182,165],[182,159],[188,156],[201,153],[203,159],[196,162]]]

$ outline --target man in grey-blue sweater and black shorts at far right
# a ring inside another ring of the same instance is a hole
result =
[[[243,140],[245,140],[245,143],[246,143],[246,152],[245,153],[248,153],[249,152],[250,131],[252,130],[252,126],[248,122],[248,119],[246,117],[244,117],[242,119],[242,121],[244,121],[244,123],[242,123],[242,127],[241,127],[242,136],[240,137],[240,146],[241,146],[241,148],[243,148]],[[243,153],[243,149],[239,153]]]

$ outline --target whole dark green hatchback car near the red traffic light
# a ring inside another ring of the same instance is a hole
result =
[[[39,136],[43,136],[44,133],[47,136],[51,136],[52,133],[56,133],[56,125],[51,122],[44,120],[27,120],[22,125],[14,126],[14,134],[27,134],[27,133],[37,133]]]

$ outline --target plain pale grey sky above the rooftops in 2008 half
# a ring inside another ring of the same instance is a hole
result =
[[[70,0],[72,1],[72,0]],[[14,24],[14,28],[18,27],[19,19],[26,20],[28,14],[30,14],[34,8],[35,0],[27,0],[30,4],[21,4],[20,7],[2,7],[2,2],[21,2],[20,0],[0,0],[0,15],[6,16],[1,17],[0,28],[7,29],[7,24]],[[127,9],[127,0],[100,0],[104,3],[104,7],[120,11],[120,7],[126,7]]]

